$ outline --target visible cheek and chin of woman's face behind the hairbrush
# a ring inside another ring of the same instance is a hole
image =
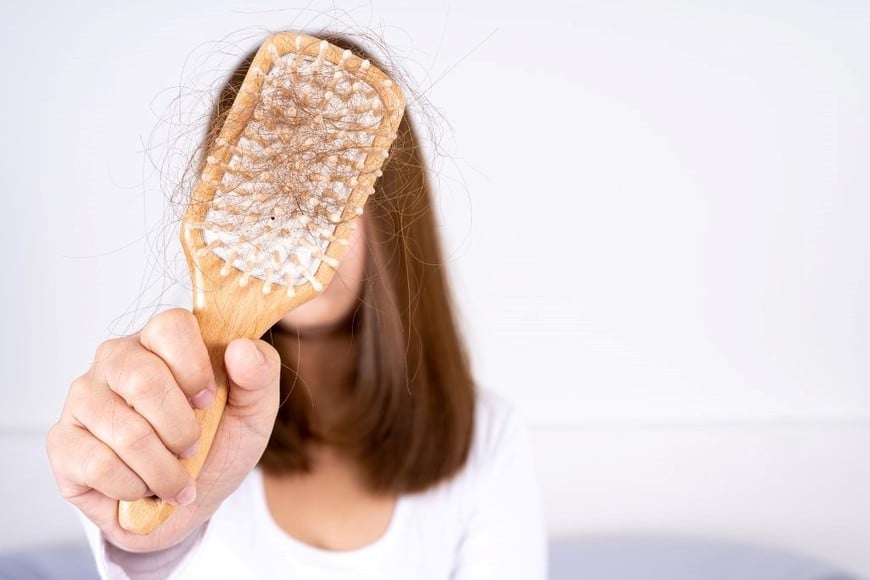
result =
[[[304,333],[324,330],[343,321],[356,307],[365,276],[365,220],[356,220],[332,282],[321,294],[291,310],[278,323]]]

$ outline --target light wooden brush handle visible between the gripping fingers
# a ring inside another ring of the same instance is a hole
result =
[[[194,409],[194,414],[201,428],[199,450],[193,457],[181,460],[182,465],[196,480],[202,471],[212,443],[214,443],[215,434],[227,403],[228,379],[224,365],[224,352],[233,339],[240,338],[242,335],[232,332],[227,324],[222,324],[222,322],[226,322],[225,319],[210,316],[206,310],[195,309],[193,313],[199,322],[217,384],[214,402],[206,409]],[[259,336],[247,338],[259,338]],[[148,497],[132,502],[121,501],[118,504],[118,521],[121,527],[128,532],[150,534],[169,519],[175,509],[176,506],[159,497]]]

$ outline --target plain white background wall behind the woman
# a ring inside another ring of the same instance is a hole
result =
[[[870,575],[866,3],[286,4],[0,19],[0,548],[76,533],[44,433],[157,300],[209,88],[266,31],[329,25],[384,37],[420,91],[477,374],[534,427],[553,533]]]

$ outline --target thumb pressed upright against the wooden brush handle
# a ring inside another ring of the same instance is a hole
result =
[[[271,429],[278,412],[278,352],[262,340],[238,338],[227,345],[224,362],[230,379],[225,412],[240,418],[263,417]]]

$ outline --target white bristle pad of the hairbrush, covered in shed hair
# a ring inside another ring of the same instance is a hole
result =
[[[311,283],[337,224],[361,210],[348,207],[359,176],[386,157],[372,147],[383,114],[344,64],[276,58],[238,141],[217,156],[228,162],[198,226],[205,244],[265,286]]]

